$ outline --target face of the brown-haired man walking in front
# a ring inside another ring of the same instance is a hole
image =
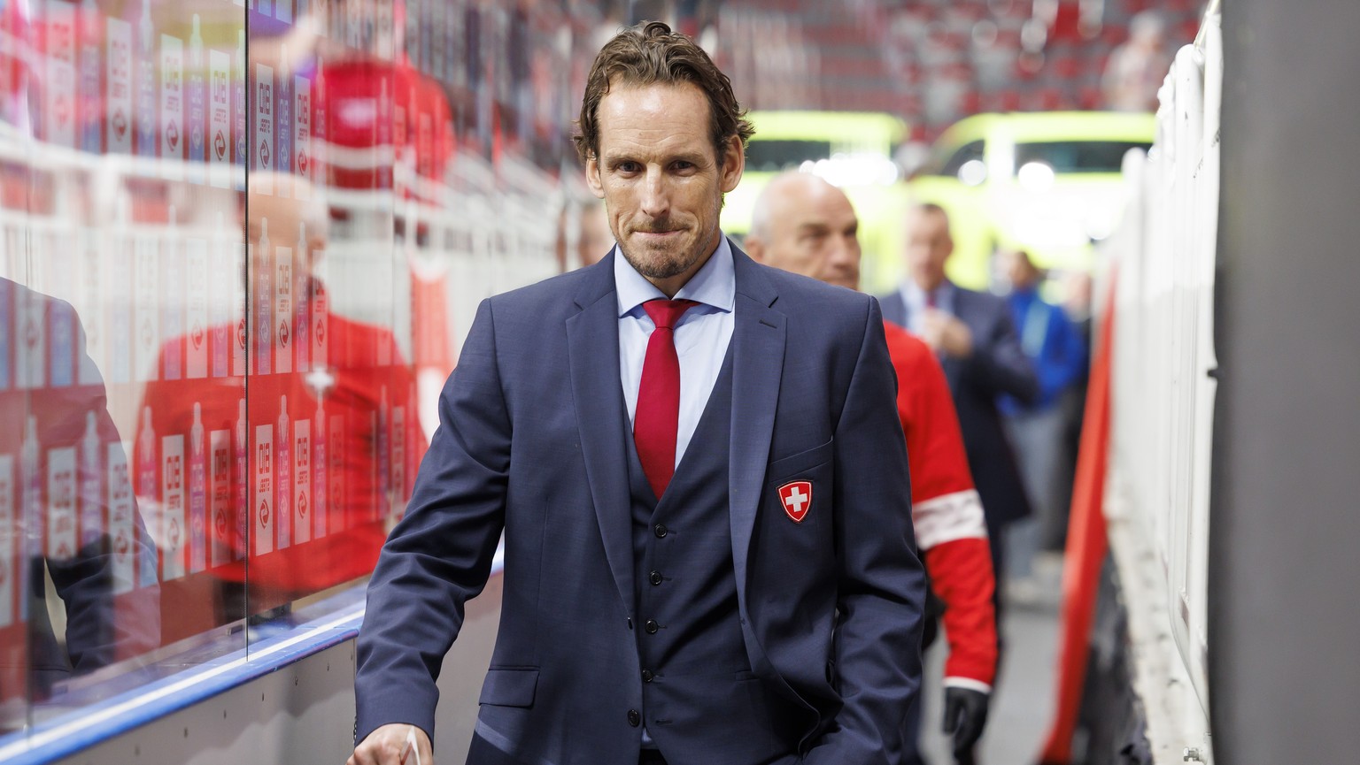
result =
[[[600,154],[586,181],[605,201],[623,257],[653,283],[676,288],[718,246],[722,194],[741,179],[741,140],[719,164],[709,101],[698,86],[612,86],[600,101]]]

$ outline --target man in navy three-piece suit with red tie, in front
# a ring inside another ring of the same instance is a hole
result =
[[[751,126],[661,23],[588,79],[617,246],[483,302],[369,587],[351,762],[430,762],[505,533],[468,762],[896,765],[925,594],[877,303],[718,228]]]

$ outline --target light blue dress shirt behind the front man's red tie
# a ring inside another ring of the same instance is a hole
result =
[[[642,364],[647,357],[647,340],[656,325],[642,307],[665,292],[638,273],[615,246],[613,284],[619,296],[619,378],[628,405],[628,423],[638,410],[638,386]],[[703,264],[676,299],[699,303],[680,317],[675,327],[676,355],[680,357],[680,421],[676,433],[676,465],[684,457],[699,417],[709,405],[709,394],[718,382],[722,360],[732,342],[733,308],[737,296],[737,272],[732,247],[722,236],[709,262]]]

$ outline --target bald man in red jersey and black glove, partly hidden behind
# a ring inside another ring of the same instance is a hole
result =
[[[860,287],[858,219],[850,200],[802,173],[775,178],[756,202],[745,246],[767,265],[850,289]],[[949,637],[945,731],[960,760],[982,735],[997,667],[994,576],[982,503],[972,485],[959,419],[940,361],[906,329],[884,322],[898,374],[898,416],[907,438],[911,520]],[[926,644],[933,630],[926,630]],[[919,722],[919,707],[908,717]],[[908,730],[907,762],[915,739]]]

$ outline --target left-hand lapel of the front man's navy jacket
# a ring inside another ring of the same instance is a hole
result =
[[[571,394],[581,452],[604,553],[624,610],[632,614],[632,527],[628,501],[628,433],[619,387],[619,303],[613,258],[607,257],[577,293],[581,313],[567,319]]]

